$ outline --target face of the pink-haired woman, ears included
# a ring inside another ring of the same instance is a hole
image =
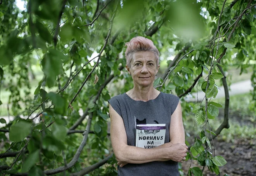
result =
[[[138,51],[131,60],[130,68],[127,65],[126,68],[131,73],[134,84],[146,87],[153,85],[159,65],[157,66],[153,52]]]

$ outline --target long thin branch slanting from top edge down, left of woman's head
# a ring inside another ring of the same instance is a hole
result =
[[[117,10],[117,7],[118,7],[118,3],[116,4],[116,9],[114,10],[114,13],[111,17],[111,20],[110,20],[110,27],[109,27],[109,32],[107,34],[107,38],[105,40],[105,43],[104,43],[104,46],[102,47],[102,49],[100,50],[100,53],[98,55],[98,60],[97,60],[97,63],[94,65],[94,67],[92,68],[91,72],[87,75],[86,79],[84,80],[83,84],[81,85],[80,89],[78,90],[78,92],[76,92],[75,96],[73,97],[73,99],[71,99],[70,103],[69,104],[72,104],[74,99],[76,99],[76,97],[78,96],[79,92],[82,90],[83,86],[85,85],[85,83],[87,82],[87,80],[91,77],[93,71],[95,70],[95,68],[98,66],[99,64],[99,61],[100,61],[100,55],[102,54],[102,52],[105,50],[106,46],[107,46],[107,41],[109,40],[109,37],[110,37],[110,34],[111,34],[111,31],[112,31],[112,25],[113,25],[113,21],[114,21],[114,17],[116,16],[116,10]]]

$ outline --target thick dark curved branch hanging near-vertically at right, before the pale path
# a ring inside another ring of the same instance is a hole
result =
[[[227,84],[227,80],[226,80],[226,75],[222,69],[222,67],[220,65],[217,64],[217,67],[220,69],[221,74],[223,75],[223,78],[221,78],[222,80],[222,84],[224,87],[224,91],[225,91],[225,109],[224,109],[224,120],[221,123],[221,125],[219,126],[219,128],[214,132],[216,134],[216,136],[213,136],[212,138],[216,138],[221,130],[223,130],[223,128],[229,128],[229,123],[228,123],[228,107],[229,107],[229,92],[228,92],[228,84]]]

